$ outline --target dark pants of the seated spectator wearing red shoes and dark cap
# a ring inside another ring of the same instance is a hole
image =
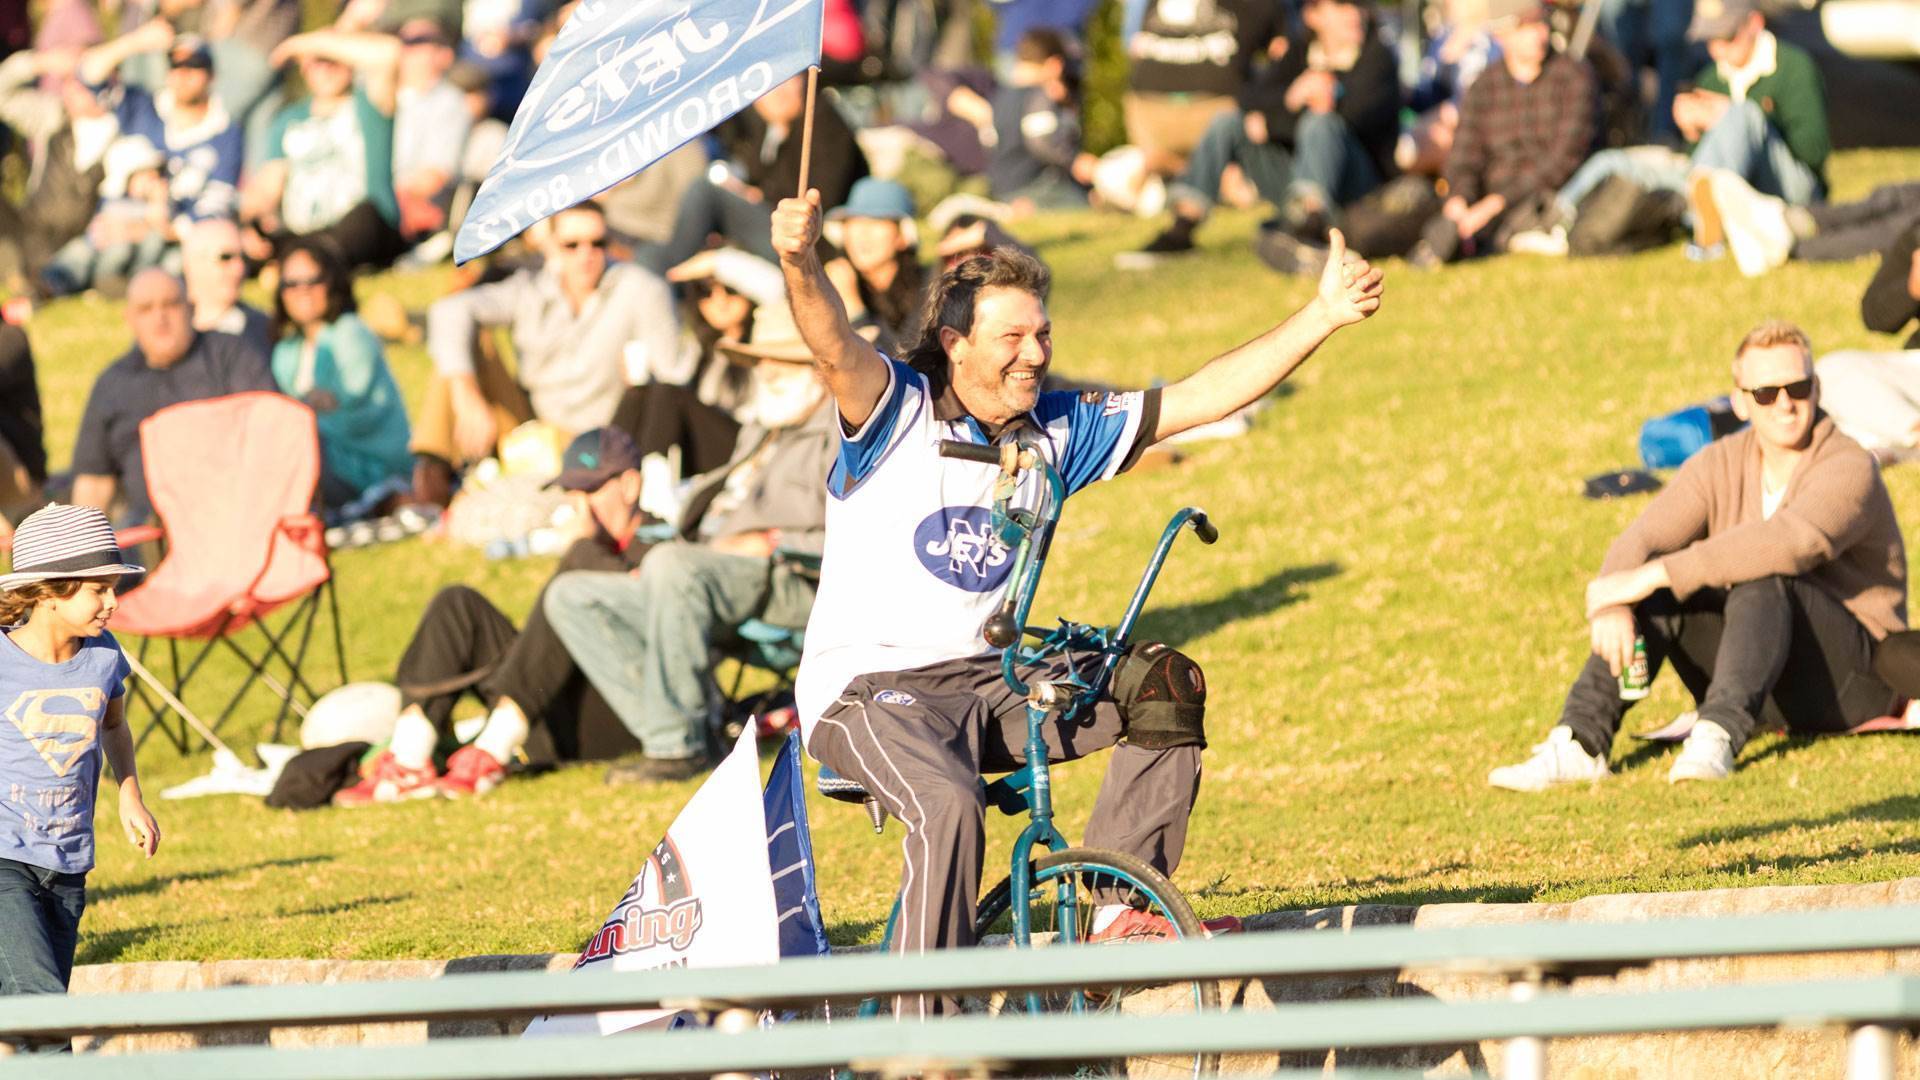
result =
[[[555,577],[626,569],[620,553],[580,540],[566,550]],[[482,678],[470,678],[480,671]],[[503,696],[513,698],[534,724],[526,751],[536,763],[616,757],[639,748],[574,665],[538,598],[526,626],[516,630],[472,588],[440,590],[399,657],[396,682],[407,703],[420,705],[442,732],[449,730],[453,705],[468,688],[490,707]]]

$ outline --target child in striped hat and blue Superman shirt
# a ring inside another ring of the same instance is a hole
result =
[[[131,669],[106,628],[131,573],[104,513],[54,503],[19,525],[0,575],[0,995],[67,990],[102,757],[127,840],[159,847],[127,728]]]

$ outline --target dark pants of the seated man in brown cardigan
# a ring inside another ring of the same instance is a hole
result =
[[[1647,640],[1647,673],[1672,663],[1699,719],[1734,738],[1734,753],[1763,723],[1793,734],[1841,732],[1885,715],[1895,694],[1872,673],[1874,636],[1807,578],[1766,577],[1676,600],[1661,590],[1634,605]],[[1561,723],[1605,757],[1632,701],[1607,661],[1590,655],[1567,694]]]

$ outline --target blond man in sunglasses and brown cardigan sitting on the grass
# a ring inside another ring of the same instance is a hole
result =
[[[1586,588],[1594,651],[1534,755],[1496,788],[1607,776],[1632,707],[1620,673],[1644,642],[1697,703],[1670,782],[1724,780],[1761,726],[1839,732],[1895,692],[1878,642],[1907,628],[1907,550],[1880,469],[1820,409],[1807,334],[1766,321],[1734,350],[1734,411],[1749,427],[1688,459],[1607,550]]]

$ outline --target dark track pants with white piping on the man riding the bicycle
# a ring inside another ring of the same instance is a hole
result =
[[[1073,761],[1123,734],[1119,707],[1102,698],[1071,726],[1044,728],[1046,757]],[[1025,700],[1000,678],[998,655],[862,675],[820,717],[808,753],[858,780],[906,824],[895,951],[973,944],[985,847],[979,778],[1023,767],[1025,748]],[[1171,874],[1198,796],[1198,746],[1114,746],[1085,842],[1139,855]]]

